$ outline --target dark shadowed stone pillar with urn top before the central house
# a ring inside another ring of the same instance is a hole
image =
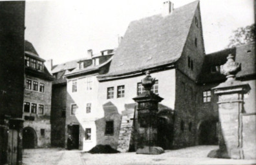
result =
[[[138,102],[138,130],[137,130],[137,146],[136,153],[140,154],[160,154],[164,150],[157,146],[157,112],[158,102],[163,99],[151,92],[155,79],[151,77],[149,72],[142,80],[145,92],[133,98]]]

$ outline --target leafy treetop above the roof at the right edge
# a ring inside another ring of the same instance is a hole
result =
[[[240,27],[233,31],[233,35],[229,37],[228,48],[239,46],[241,44],[251,43],[255,41],[255,24]]]

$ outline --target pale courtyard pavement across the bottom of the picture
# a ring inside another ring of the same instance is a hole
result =
[[[25,150],[24,165],[94,165],[94,164],[256,164],[256,160],[208,158],[209,151],[218,146],[194,146],[180,150],[167,150],[161,155],[138,155],[131,153],[91,154],[78,150],[58,148]]]

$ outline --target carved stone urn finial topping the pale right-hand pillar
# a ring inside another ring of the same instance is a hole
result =
[[[220,73],[226,75],[227,78],[234,79],[235,75],[241,70],[241,64],[235,63],[234,56],[229,54],[228,61],[220,66]]]

